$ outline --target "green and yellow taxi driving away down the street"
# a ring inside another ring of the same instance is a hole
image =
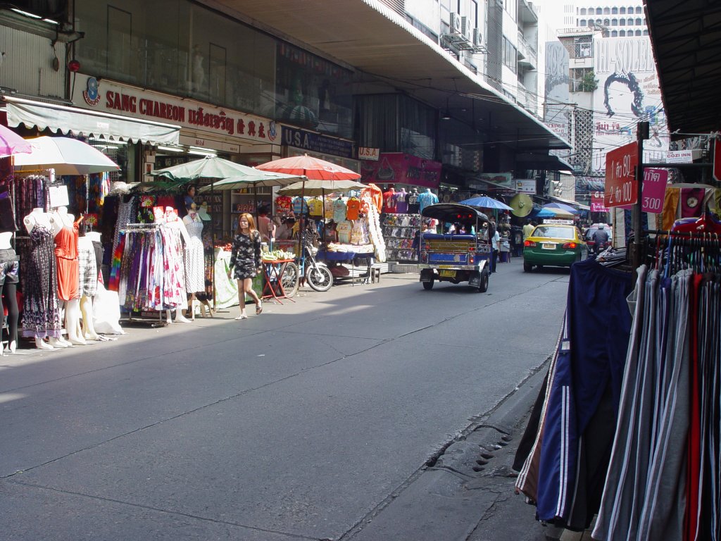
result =
[[[541,224],[523,241],[523,271],[527,273],[534,265],[570,267],[585,258],[588,258],[588,245],[572,223]]]

